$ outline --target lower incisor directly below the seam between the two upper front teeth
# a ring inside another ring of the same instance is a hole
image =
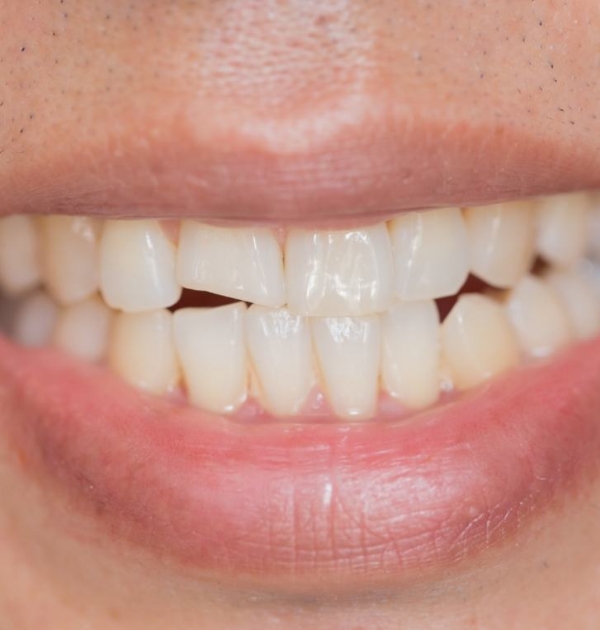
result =
[[[307,320],[283,308],[253,305],[246,332],[263,406],[279,416],[298,413],[316,380]]]

